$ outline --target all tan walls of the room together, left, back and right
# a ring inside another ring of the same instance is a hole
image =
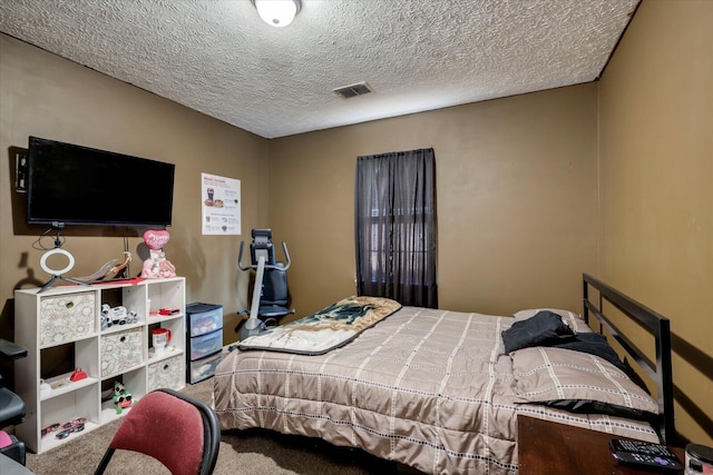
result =
[[[441,307],[578,309],[582,271],[599,275],[671,317],[677,428],[710,444],[694,419],[713,414],[712,9],[644,0],[598,85],[272,141],[0,34],[0,335],[13,288],[49,278],[13,217],[8,149],[29,135],[177,165],[166,251],[188,301],[225,305],[226,340],[247,305],[235,259],[252,227],[287,241],[293,303],[310,314],[354,291],[355,157],[433,147]],[[201,235],[202,171],[242,180],[243,236]],[[78,274],[120,256],[109,234],[68,237]]]

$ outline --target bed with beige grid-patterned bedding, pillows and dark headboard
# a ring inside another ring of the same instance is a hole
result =
[[[518,415],[671,443],[668,320],[586,274],[583,289],[582,315],[404,306],[330,348],[309,348],[323,331],[307,347],[246,339],[216,368],[221,428],[319,437],[429,474],[517,474]],[[655,360],[611,311],[652,335]],[[612,359],[603,333],[627,352],[624,360]],[[641,374],[653,380],[654,397],[635,384]]]

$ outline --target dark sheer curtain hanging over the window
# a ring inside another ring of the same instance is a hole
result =
[[[438,308],[433,149],[356,158],[356,291]]]

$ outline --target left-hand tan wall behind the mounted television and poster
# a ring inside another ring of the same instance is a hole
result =
[[[236,266],[243,237],[202,235],[201,172],[241,180],[243,229],[250,236],[252,227],[264,225],[267,214],[268,141],[0,34],[0,298],[4,307],[0,326],[11,325],[16,287],[49,279],[39,267],[42,251],[32,248],[46,228],[23,224],[25,196],[14,192],[10,177],[8,149],[27,147],[30,135],[176,164],[174,222],[166,255],[187,278],[187,301],[225,306],[226,340],[234,342],[236,317],[229,314],[246,306],[246,273]],[[107,186],[117,192],[131,192],[130,180],[106,177]],[[71,275],[89,275],[121,257],[123,232],[67,229],[64,248],[77,259]],[[131,237],[129,249],[136,250],[141,241]],[[51,246],[51,239],[45,244]],[[133,263],[131,275],[140,273],[140,265],[139,259]],[[23,283],[29,273],[33,279]]]

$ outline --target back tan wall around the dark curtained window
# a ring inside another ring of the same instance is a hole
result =
[[[440,306],[579,310],[582,273],[597,273],[595,85],[272,140],[271,224],[291,249],[299,315],[354,293],[356,157],[423,147],[436,151]]]

